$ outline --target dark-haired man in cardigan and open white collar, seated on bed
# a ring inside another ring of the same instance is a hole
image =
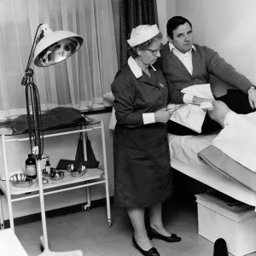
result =
[[[172,17],[166,26],[169,42],[161,51],[159,64],[166,80],[175,90],[194,84],[209,84],[210,74],[238,90],[228,90],[224,96],[215,99],[225,102],[236,113],[251,113],[256,108],[255,86],[235,68],[219,57],[218,53],[206,46],[193,44],[192,25],[189,20],[181,17]],[[207,102],[206,99],[183,95],[185,103]],[[217,122],[206,115],[202,125],[202,133],[212,133],[221,129]],[[198,134],[183,125],[168,121],[168,132],[177,135]]]

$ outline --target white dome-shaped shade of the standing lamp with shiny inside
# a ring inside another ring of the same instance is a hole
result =
[[[84,39],[69,31],[53,32],[48,25],[43,24],[42,39],[34,50],[34,64],[38,67],[48,67],[66,60],[83,44]]]

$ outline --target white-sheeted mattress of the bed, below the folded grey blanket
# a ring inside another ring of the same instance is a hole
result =
[[[169,134],[168,141],[171,154],[171,166],[178,172],[183,172],[213,189],[230,195],[238,201],[256,207],[256,193],[228,177],[223,172],[218,172],[212,166],[201,162],[197,154],[207,146],[217,135],[204,136],[176,136]]]

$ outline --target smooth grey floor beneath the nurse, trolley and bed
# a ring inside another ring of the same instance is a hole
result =
[[[163,208],[167,229],[177,233],[183,240],[166,243],[154,239],[154,247],[157,247],[161,256],[212,256],[212,242],[197,234],[194,196],[172,198],[166,201]],[[109,227],[105,207],[48,218],[49,247],[54,252],[80,249],[84,256],[142,255],[132,246],[131,224],[124,210],[113,205],[112,218],[113,225]],[[41,253],[41,222],[17,226],[15,233],[29,256]],[[250,254],[253,255],[256,253]]]

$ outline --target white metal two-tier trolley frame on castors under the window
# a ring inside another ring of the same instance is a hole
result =
[[[61,131],[62,129],[65,129],[65,131]],[[102,133],[102,154],[103,154],[102,170],[98,168],[86,168],[86,172],[82,177],[73,177],[70,172],[67,172],[67,170],[58,170],[58,171],[65,172],[64,178],[58,181],[54,181],[50,179],[50,177],[45,177],[48,180],[48,183],[43,184],[43,189],[44,189],[43,193],[44,195],[51,195],[51,194],[61,193],[68,190],[85,188],[87,202],[84,205],[84,207],[82,207],[82,209],[84,211],[88,211],[90,209],[90,186],[94,186],[102,183],[105,185],[105,190],[106,190],[107,220],[108,220],[108,225],[110,226],[112,224],[112,220],[111,220],[111,211],[110,211],[110,199],[109,199],[109,188],[108,188],[108,165],[107,165],[105,129],[104,129],[103,120],[90,119],[84,116],[84,119],[82,120],[82,122],[71,124],[71,125],[69,124],[61,125],[61,126],[56,126],[50,129],[45,129],[44,138],[47,140],[47,138],[49,139],[50,137],[65,137],[68,134],[81,133],[83,138],[84,160],[87,160],[86,132],[95,131],[96,129],[100,129]],[[10,176],[10,172],[8,170],[8,161],[7,161],[7,154],[10,154],[10,152],[9,153],[7,152],[6,144],[7,143],[23,143],[23,142],[27,143],[27,141],[29,141],[29,137],[28,136],[20,137],[21,134],[26,135],[26,131],[20,132],[20,133],[16,132],[13,134],[10,134],[9,131],[5,131],[4,129],[2,129],[2,132],[0,131],[5,177]],[[42,172],[42,166],[40,166],[40,160],[37,162],[37,164],[38,164],[38,173],[40,173]],[[41,170],[39,170],[40,168]],[[12,203],[15,201],[28,200],[34,197],[38,197],[40,194],[38,181],[33,180],[32,186],[29,188],[17,188],[13,185],[12,182],[8,180],[0,180],[0,189],[2,189],[3,194],[7,198],[10,227],[12,228],[12,230],[15,230]],[[41,190],[42,189],[40,189],[40,191]],[[3,195],[0,194],[0,230],[4,229],[2,197]],[[41,200],[41,196],[40,196],[40,200]],[[43,210],[41,214],[42,214],[42,222],[45,223],[45,210]]]

